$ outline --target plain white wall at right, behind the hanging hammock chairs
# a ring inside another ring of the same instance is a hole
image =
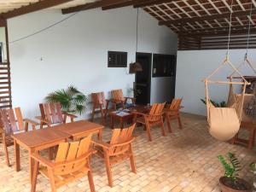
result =
[[[230,61],[238,67],[243,61],[245,49],[230,50]],[[256,50],[249,50],[249,58],[256,67]],[[224,61],[226,50],[188,50],[177,51],[177,76],[176,76],[176,96],[183,97],[183,111],[206,115],[206,107],[200,101],[205,97],[205,87],[202,79],[212,73],[222,61]],[[229,67],[224,67],[220,73],[213,76],[213,79],[226,80],[230,75]],[[241,67],[241,73],[252,75],[252,70]],[[213,101],[226,101],[228,96],[228,85],[212,84],[209,87],[210,96]],[[240,90],[236,87],[236,90]]]

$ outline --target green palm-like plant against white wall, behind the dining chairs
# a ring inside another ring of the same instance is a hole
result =
[[[46,102],[60,102],[62,110],[67,113],[83,114],[88,102],[87,96],[70,85],[67,90],[55,90],[45,97]]]

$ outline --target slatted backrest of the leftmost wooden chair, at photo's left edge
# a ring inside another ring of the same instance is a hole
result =
[[[24,123],[20,108],[9,108],[0,110],[3,128],[7,136],[15,131],[24,130]]]

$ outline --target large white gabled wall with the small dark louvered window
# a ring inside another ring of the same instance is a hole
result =
[[[108,68],[108,50],[128,52],[135,60],[136,16],[133,8],[80,12],[47,31],[10,44],[13,105],[24,116],[38,115],[38,103],[53,90],[74,84],[84,94],[122,88],[125,95],[134,75],[128,68]],[[37,32],[67,17],[44,10],[8,20],[9,41]],[[171,54],[176,37],[144,11],[140,13],[139,52]],[[90,113],[90,110],[88,110]]]

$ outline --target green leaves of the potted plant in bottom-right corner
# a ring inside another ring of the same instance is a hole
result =
[[[232,153],[227,154],[228,160],[223,155],[218,155],[218,160],[224,167],[225,177],[229,177],[234,183],[236,183],[236,177],[239,176],[241,166],[239,160],[236,159],[236,155]],[[229,161],[229,162],[228,162]]]

